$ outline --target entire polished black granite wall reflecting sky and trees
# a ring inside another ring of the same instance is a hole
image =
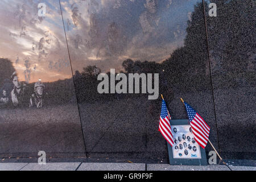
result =
[[[222,158],[255,159],[253,1],[212,0],[216,17],[201,0],[43,2],[43,17],[37,1],[1,2],[0,88],[9,97],[1,100],[1,158],[43,150],[47,158],[167,161],[160,96],[98,93],[98,74],[115,69],[159,73],[172,119],[187,118],[182,97],[210,126]],[[18,106],[14,71],[26,88]],[[31,107],[39,79],[43,104]]]

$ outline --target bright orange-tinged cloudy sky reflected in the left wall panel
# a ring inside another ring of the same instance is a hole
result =
[[[44,2],[47,14],[42,19],[37,15],[36,1],[0,1],[0,55],[13,61],[19,80],[22,81],[28,76],[31,76],[32,82],[38,78],[56,81],[72,76],[66,63],[68,52],[59,1]],[[32,72],[26,71],[23,64],[27,56],[33,65],[31,68],[36,68]],[[48,69],[49,60],[58,63],[57,69]],[[24,75],[24,71],[30,75]]]

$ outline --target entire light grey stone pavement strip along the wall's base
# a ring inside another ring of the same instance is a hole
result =
[[[251,166],[171,166],[146,163],[0,163],[0,171],[256,171]]]

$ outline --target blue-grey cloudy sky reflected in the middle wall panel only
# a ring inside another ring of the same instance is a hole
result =
[[[127,58],[156,62],[167,59],[184,45],[187,14],[195,1],[181,0],[175,6],[169,0],[95,0],[97,6],[90,0],[62,1],[65,26],[72,19],[73,3],[81,13],[79,26],[71,25],[67,31],[73,69],[81,71],[88,65],[97,65],[108,72],[110,68],[121,69]],[[177,12],[177,6],[187,12]]]

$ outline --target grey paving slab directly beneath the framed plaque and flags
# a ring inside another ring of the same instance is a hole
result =
[[[171,166],[170,164],[147,164],[147,171],[230,171],[226,166]]]

